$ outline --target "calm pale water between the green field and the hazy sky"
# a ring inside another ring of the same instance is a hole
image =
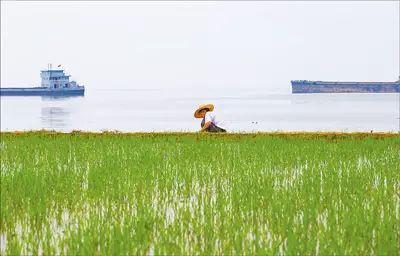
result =
[[[202,103],[230,131],[399,130],[399,94],[305,94],[260,89],[87,90],[80,97],[1,97],[1,130],[196,131]]]

